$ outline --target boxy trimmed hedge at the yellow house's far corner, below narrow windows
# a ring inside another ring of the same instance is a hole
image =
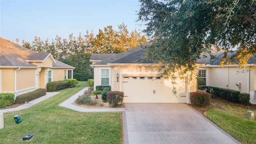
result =
[[[68,85],[69,85],[68,81],[64,81],[64,80],[48,82],[46,84],[47,92],[55,92],[58,90],[63,90],[63,89],[66,89]]]

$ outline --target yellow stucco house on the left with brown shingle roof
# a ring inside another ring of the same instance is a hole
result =
[[[46,88],[52,81],[73,78],[74,67],[0,38],[0,93],[15,96]]]

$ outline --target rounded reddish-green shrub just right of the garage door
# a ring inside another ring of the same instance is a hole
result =
[[[194,106],[205,107],[209,106],[211,102],[211,94],[207,92],[191,92],[190,103]]]

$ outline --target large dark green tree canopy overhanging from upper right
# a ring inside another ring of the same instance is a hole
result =
[[[181,67],[182,72],[194,70],[211,46],[225,50],[222,64],[233,60],[244,66],[256,55],[256,0],[139,1],[137,21],[146,23],[144,32],[152,42],[145,56],[167,67],[166,74]]]

